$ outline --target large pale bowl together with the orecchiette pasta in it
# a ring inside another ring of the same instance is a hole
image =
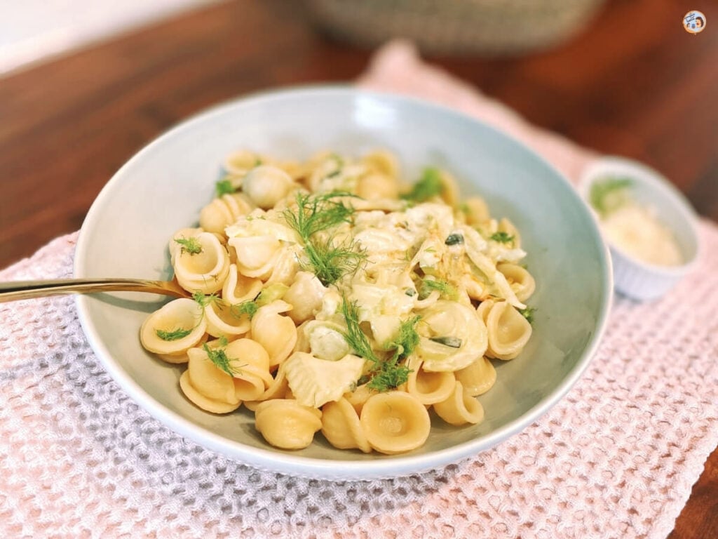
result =
[[[108,260],[108,244],[134,247]],[[327,479],[518,432],[579,377],[610,303],[595,225],[544,162],[450,111],[344,88],[230,103],[140,152],[78,243],[78,276],[117,270],[193,294],[78,299],[132,397],[216,451]]]

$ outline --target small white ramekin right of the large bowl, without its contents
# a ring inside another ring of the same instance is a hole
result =
[[[597,180],[610,177],[630,178],[631,195],[636,203],[653,208],[661,223],[675,237],[684,263],[679,266],[648,264],[607,241],[613,262],[613,282],[618,292],[635,300],[653,300],[671,290],[690,272],[699,253],[696,213],[684,195],[661,174],[645,165],[623,157],[602,157],[582,172],[579,192],[597,221],[589,193]]]

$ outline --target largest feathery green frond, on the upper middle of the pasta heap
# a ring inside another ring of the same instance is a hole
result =
[[[335,200],[345,196],[348,196],[348,193],[298,193],[297,211],[290,208],[284,210],[287,224],[299,234],[304,243],[309,266],[325,286],[337,282],[342,275],[355,271],[366,258],[365,253],[355,248],[353,241],[337,246],[331,237],[322,239],[315,236],[317,232],[351,221],[354,208]]]

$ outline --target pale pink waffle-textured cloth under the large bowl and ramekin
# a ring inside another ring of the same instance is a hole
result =
[[[361,84],[456,106],[576,178],[592,154],[381,50]],[[444,469],[330,483],[256,471],[185,440],[106,374],[72,298],[0,304],[0,537],[663,538],[718,445],[718,227],[654,303],[617,297],[581,380],[533,425]],[[76,235],[0,272],[69,277]]]

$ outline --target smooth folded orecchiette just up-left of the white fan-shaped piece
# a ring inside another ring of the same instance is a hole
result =
[[[292,305],[281,300],[260,307],[252,318],[252,338],[269,352],[269,365],[276,367],[292,353],[297,344],[297,326],[282,315]]]

